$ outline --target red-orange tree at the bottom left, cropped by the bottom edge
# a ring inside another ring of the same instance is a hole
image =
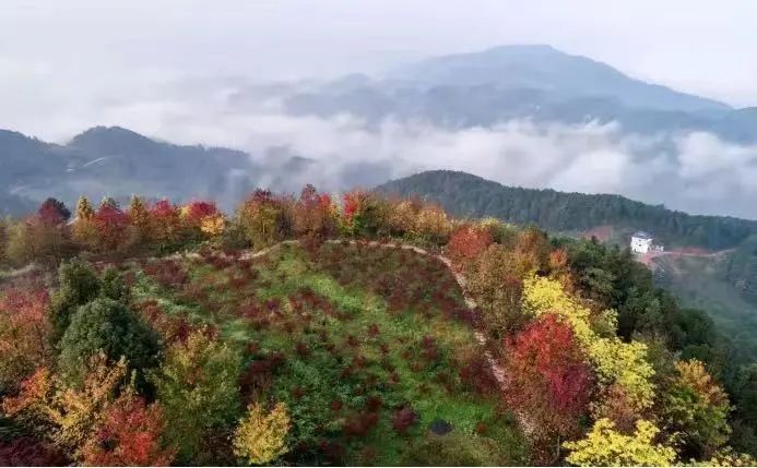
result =
[[[132,394],[119,397],[82,449],[87,466],[167,466],[174,449],[161,443],[165,429],[159,404]]]

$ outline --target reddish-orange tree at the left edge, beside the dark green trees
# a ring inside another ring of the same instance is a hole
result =
[[[45,291],[10,289],[0,296],[0,395],[16,391],[37,367],[48,364],[49,302]]]

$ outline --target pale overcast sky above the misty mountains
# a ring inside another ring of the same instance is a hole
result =
[[[502,44],[755,106],[755,20],[752,0],[2,0],[0,127],[44,133],[67,106],[173,79],[377,73]]]

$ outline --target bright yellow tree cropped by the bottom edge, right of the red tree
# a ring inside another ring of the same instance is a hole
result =
[[[616,432],[612,421],[600,419],[586,439],[563,446],[570,451],[566,460],[576,466],[671,466],[675,451],[654,442],[659,433],[643,419],[637,421],[631,435]]]

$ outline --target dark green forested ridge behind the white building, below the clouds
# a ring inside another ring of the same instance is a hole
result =
[[[535,224],[558,232],[583,232],[611,225],[626,233],[642,229],[665,245],[725,249],[757,233],[757,221],[696,216],[619,195],[513,188],[465,172],[434,170],[379,185],[377,191],[421,196],[458,216],[493,216]],[[626,240],[624,239],[625,243]]]

